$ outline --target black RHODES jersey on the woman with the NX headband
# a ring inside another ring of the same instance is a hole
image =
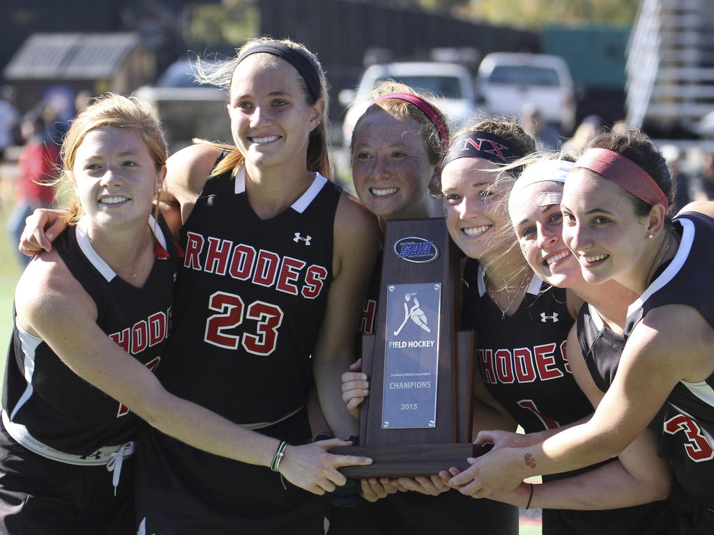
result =
[[[476,330],[477,359],[488,391],[527,432],[554,429],[593,412],[568,366],[573,325],[565,290],[534,275],[518,310],[503,317],[478,262],[464,270],[462,325]]]

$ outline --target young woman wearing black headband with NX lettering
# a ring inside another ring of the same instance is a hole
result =
[[[475,419],[481,429],[500,422],[501,429],[513,431],[518,422],[527,432],[538,432],[592,412],[565,360],[578,301],[533,275],[508,217],[508,194],[521,169],[511,165],[499,171],[533,151],[533,139],[515,123],[482,121],[453,138],[443,161],[447,227],[469,257],[462,325],[477,332],[481,380],[474,395],[491,399],[491,414]],[[443,490],[441,481],[428,481],[428,487],[423,481],[400,482],[421,492]],[[545,511],[546,533],[571,529],[569,519],[557,513]]]

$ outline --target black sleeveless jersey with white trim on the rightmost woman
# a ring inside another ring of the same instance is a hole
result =
[[[674,230],[681,235],[677,254],[628,308],[625,337],[649,310],[668,304],[689,305],[714,327],[714,288],[710,283],[714,220],[700,213],[686,213],[675,218]],[[670,461],[683,489],[710,501],[713,507],[714,374],[698,383],[680,381],[667,398],[660,418],[660,457]],[[709,515],[714,516],[711,509]]]

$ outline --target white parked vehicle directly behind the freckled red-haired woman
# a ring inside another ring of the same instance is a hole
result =
[[[348,106],[342,123],[342,141],[349,146],[358,118],[369,106],[368,93],[376,83],[393,80],[436,96],[436,104],[453,128],[478,111],[473,76],[459,63],[403,61],[379,63],[365,69],[356,91],[343,90],[339,101]]]

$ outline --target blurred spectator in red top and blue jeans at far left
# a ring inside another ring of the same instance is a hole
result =
[[[59,148],[52,141],[43,118],[31,113],[23,118],[22,136],[26,139],[17,163],[17,181],[15,183],[15,208],[7,221],[10,243],[17,244],[25,218],[35,208],[49,208],[54,198],[52,183],[57,177]],[[21,265],[30,260],[18,250],[17,258]]]

